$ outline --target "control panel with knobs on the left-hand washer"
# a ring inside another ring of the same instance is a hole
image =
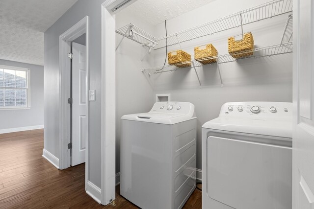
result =
[[[194,105],[190,102],[156,102],[150,113],[178,113],[193,115]]]

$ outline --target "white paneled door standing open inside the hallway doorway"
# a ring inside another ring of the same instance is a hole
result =
[[[72,43],[72,160],[85,163],[86,147],[86,47]]]

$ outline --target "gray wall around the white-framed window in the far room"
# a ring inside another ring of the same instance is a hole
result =
[[[44,124],[44,67],[8,60],[0,65],[30,69],[30,105],[27,110],[0,110],[0,129],[37,126]]]

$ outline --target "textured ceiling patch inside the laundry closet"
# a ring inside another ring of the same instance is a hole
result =
[[[136,14],[152,25],[156,25],[212,1],[214,0],[137,0],[125,10],[131,14]]]

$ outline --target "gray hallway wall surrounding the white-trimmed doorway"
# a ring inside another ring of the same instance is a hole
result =
[[[89,16],[89,89],[96,101],[89,103],[88,180],[101,187],[101,4],[105,0],[78,0],[45,32],[45,149],[59,158],[59,36]]]

